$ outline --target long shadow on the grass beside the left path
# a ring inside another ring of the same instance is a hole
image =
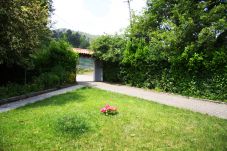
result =
[[[81,90],[85,91],[86,89],[90,89],[90,88],[81,88],[80,91]],[[77,91],[78,90],[73,91],[73,92],[68,92],[65,94],[60,94],[60,95],[53,96],[53,97],[44,99],[42,101],[36,102],[36,103],[28,104],[25,107],[19,108],[18,110],[47,107],[47,106],[63,106],[63,105],[69,104],[71,102],[80,103],[80,102],[86,101],[87,100],[86,96],[81,95]]]

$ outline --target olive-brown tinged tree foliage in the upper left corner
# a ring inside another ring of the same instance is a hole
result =
[[[47,41],[51,0],[0,2],[0,64],[32,68],[30,55]]]

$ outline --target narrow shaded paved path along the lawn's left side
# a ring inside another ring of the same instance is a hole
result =
[[[30,98],[27,98],[27,99],[22,99],[22,100],[17,101],[17,102],[4,104],[4,105],[0,106],[0,113],[6,112],[6,111],[9,111],[9,110],[12,110],[12,109],[16,109],[16,108],[21,107],[21,106],[25,106],[25,105],[30,104],[30,103],[41,101],[43,99],[50,98],[50,97],[55,96],[55,95],[64,94],[64,93],[67,93],[67,92],[70,92],[70,91],[73,91],[73,90],[76,90],[76,89],[79,89],[79,88],[82,88],[82,87],[84,87],[84,86],[83,85],[76,85],[76,86],[56,90],[56,91],[53,91],[53,92],[44,93],[44,94],[37,95],[37,96],[34,96],[34,97],[30,97]]]

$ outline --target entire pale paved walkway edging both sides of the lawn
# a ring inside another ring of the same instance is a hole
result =
[[[188,98],[188,97],[183,97],[183,96],[174,95],[174,94],[160,93],[152,90],[140,89],[140,88],[117,85],[117,84],[108,84],[103,82],[79,82],[79,85],[77,86],[57,90],[46,94],[41,94],[35,97],[31,97],[17,102],[12,102],[9,104],[2,105],[0,106],[0,112],[6,112],[21,106],[25,106],[29,103],[34,103],[55,95],[70,92],[84,86],[91,86],[91,87],[95,87],[95,88],[99,88],[107,91],[126,94],[129,96],[146,99],[160,104],[188,109],[194,112],[200,112],[203,114],[216,116],[222,119],[227,119],[227,104],[214,103],[214,102],[203,101],[200,99]]]

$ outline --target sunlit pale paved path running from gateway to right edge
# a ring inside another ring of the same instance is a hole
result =
[[[152,90],[140,89],[135,87],[107,84],[102,82],[80,82],[81,85],[88,85],[103,90],[135,96],[153,102],[188,109],[211,116],[227,119],[227,104],[214,103],[200,99],[188,98],[184,96],[155,92]]]

